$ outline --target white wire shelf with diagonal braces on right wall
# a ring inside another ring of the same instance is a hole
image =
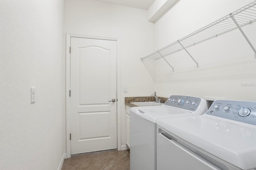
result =
[[[234,18],[234,19],[233,19]],[[224,16],[223,18],[210,23],[209,25],[198,29],[197,31],[177,40],[158,51],[147,55],[143,59],[160,59],[167,55],[171,55],[172,53],[176,53],[180,50],[183,50],[192,45],[196,45],[213,37],[217,37],[222,35],[228,31],[232,31],[233,29],[242,27],[249,23],[256,21],[256,0],[235,12]],[[236,22],[238,25],[236,25]],[[239,28],[240,29],[240,28]],[[240,30],[241,31],[241,30]],[[242,32],[242,31],[241,31]],[[246,35],[244,35],[246,37]],[[182,47],[183,46],[183,47]],[[251,45],[252,49],[254,47]],[[188,51],[186,51],[188,53]],[[254,52],[256,53],[255,49]],[[190,55],[190,54],[189,54]],[[190,57],[192,57],[190,55]],[[192,58],[193,59],[193,58]],[[193,59],[194,60],[194,59]],[[167,61],[166,61],[167,62]],[[196,62],[196,61],[195,61]],[[169,63],[168,63],[169,64]],[[197,64],[197,63],[196,63]],[[170,64],[169,64],[170,65]],[[197,64],[198,66],[198,64]]]

